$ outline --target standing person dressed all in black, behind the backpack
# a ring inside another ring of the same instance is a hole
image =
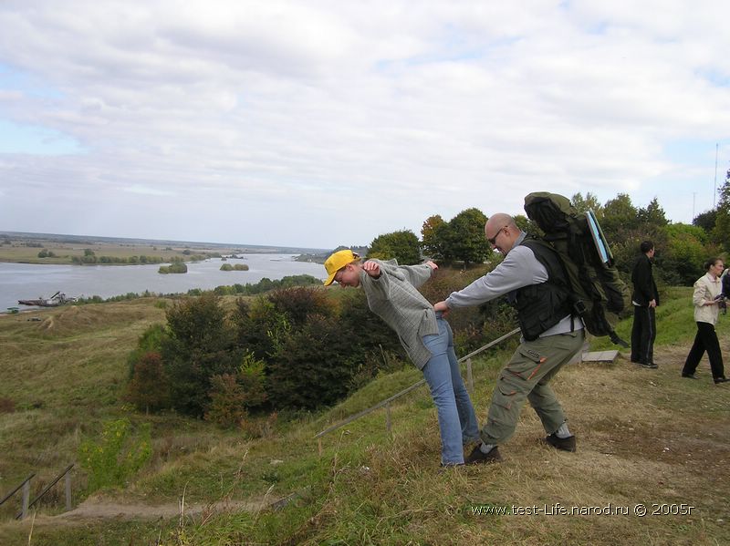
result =
[[[654,339],[656,339],[655,309],[659,305],[659,291],[652,274],[654,243],[641,242],[641,254],[631,271],[633,293],[633,327],[631,328],[631,362],[648,368],[654,364]]]

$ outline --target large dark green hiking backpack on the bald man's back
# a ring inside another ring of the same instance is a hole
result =
[[[606,316],[607,311],[623,310],[628,290],[593,211],[578,212],[568,198],[546,191],[528,194],[525,211],[543,232],[537,240],[558,253],[571,293],[569,301],[589,333],[609,335],[613,343],[628,347]]]

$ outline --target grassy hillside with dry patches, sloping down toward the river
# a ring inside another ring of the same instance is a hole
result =
[[[730,388],[712,384],[706,361],[700,381],[680,377],[695,331],[689,297],[673,289],[659,308],[658,370],[620,358],[555,379],[577,453],[542,445],[527,407],[502,464],[445,471],[425,387],[391,408],[390,432],[378,411],[323,438],[321,453],[313,439],[419,380],[413,369],[326,412],[252,423],[245,435],[118,401],[130,348],[164,320],[155,300],[2,315],[0,494],[34,471],[39,489],[113,418],[151,423],[153,455],[126,489],[90,499],[76,469],[75,504],[83,502],[65,515],[59,489],[35,518],[10,520],[16,496],[0,507],[0,544],[730,543]],[[727,320],[718,328],[725,355]],[[618,329],[628,338],[631,320]],[[474,365],[482,421],[507,357]]]

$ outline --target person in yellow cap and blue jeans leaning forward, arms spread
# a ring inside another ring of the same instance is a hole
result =
[[[362,286],[370,311],[398,334],[413,364],[431,388],[441,432],[441,464],[464,464],[464,445],[479,439],[474,407],[464,388],[454,353],[454,335],[441,313],[417,288],[438,265],[398,265],[395,260],[368,260],[350,250],[334,252],[325,262],[325,285]]]

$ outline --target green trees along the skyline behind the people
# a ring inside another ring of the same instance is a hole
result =
[[[631,274],[641,242],[651,240],[657,249],[654,260],[660,281],[691,285],[704,273],[702,264],[707,258],[730,253],[730,170],[718,197],[716,208],[697,215],[692,224],[667,220],[656,198],[641,207],[626,193],[601,203],[590,192],[578,192],[570,201],[579,212],[596,213],[624,277]],[[420,239],[409,230],[384,233],[370,243],[368,256],[394,258],[403,264],[420,263],[428,257],[464,268],[484,263],[492,257],[484,237],[486,220],[484,212],[476,208],[461,211],[449,221],[436,214],[423,221]],[[517,215],[516,222],[526,232],[538,232],[525,215]]]

